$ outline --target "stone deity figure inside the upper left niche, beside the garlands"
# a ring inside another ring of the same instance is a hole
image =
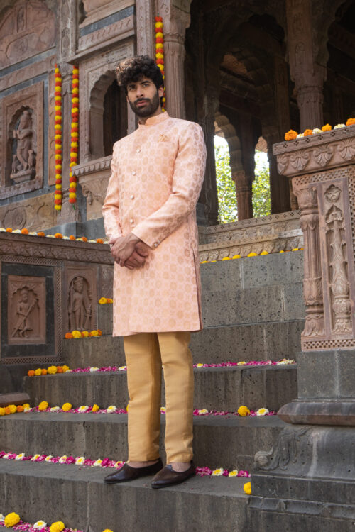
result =
[[[16,183],[28,181],[35,176],[35,151],[30,111],[21,114],[18,129],[13,130],[16,155],[13,155],[11,179]]]

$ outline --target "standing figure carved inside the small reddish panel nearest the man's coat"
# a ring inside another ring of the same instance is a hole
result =
[[[91,294],[84,277],[78,275],[70,283],[69,289],[69,324],[70,330],[85,331],[91,328],[92,304]]]

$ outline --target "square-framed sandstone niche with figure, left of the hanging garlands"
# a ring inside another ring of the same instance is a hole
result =
[[[43,82],[1,100],[0,199],[43,186]]]

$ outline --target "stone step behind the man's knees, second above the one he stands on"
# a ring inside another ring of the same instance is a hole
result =
[[[297,397],[295,365],[198,368],[194,375],[195,409],[236,411],[245,404],[253,410],[261,407],[278,410]],[[31,406],[45,400],[50,406],[62,406],[69,401],[74,408],[84,404],[126,408],[129,400],[126,372],[26,377],[25,389],[31,397]]]

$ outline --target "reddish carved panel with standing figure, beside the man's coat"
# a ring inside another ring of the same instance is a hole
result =
[[[97,268],[80,265],[65,268],[64,331],[92,331],[97,316]]]

